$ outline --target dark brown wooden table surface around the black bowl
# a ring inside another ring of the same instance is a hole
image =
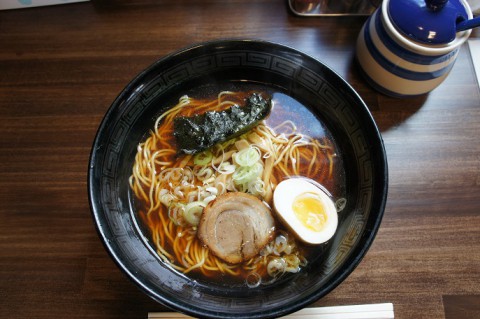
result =
[[[413,99],[373,91],[353,63],[365,17],[302,18],[279,0],[108,0],[0,12],[0,317],[146,318],[168,311],[117,268],[87,198],[111,102],[162,56],[260,38],[351,83],[385,141],[390,184],[358,268],[313,306],[392,302],[395,318],[480,318],[480,92],[468,46]],[[478,33],[474,36],[479,37]]]

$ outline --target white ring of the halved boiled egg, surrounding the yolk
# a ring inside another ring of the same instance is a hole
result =
[[[294,199],[304,193],[314,193],[325,208],[327,221],[319,232],[308,229],[295,216],[292,209]],[[290,178],[280,182],[273,194],[273,205],[282,221],[297,235],[309,244],[321,244],[335,234],[338,225],[337,210],[332,199],[319,187],[304,178]]]

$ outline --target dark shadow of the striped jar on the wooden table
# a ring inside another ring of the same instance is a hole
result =
[[[364,79],[355,58],[350,60],[349,70],[350,72],[346,80],[367,105],[380,132],[386,132],[406,122],[428,100],[429,94],[409,98],[396,98],[379,93]]]

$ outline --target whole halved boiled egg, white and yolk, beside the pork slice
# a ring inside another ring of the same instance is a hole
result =
[[[273,205],[283,222],[306,243],[321,244],[335,234],[338,224],[335,203],[308,179],[280,182],[273,193]]]

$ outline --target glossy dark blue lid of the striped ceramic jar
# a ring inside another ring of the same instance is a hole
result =
[[[460,0],[390,0],[388,14],[398,31],[425,44],[455,40],[457,22],[468,19]]]

